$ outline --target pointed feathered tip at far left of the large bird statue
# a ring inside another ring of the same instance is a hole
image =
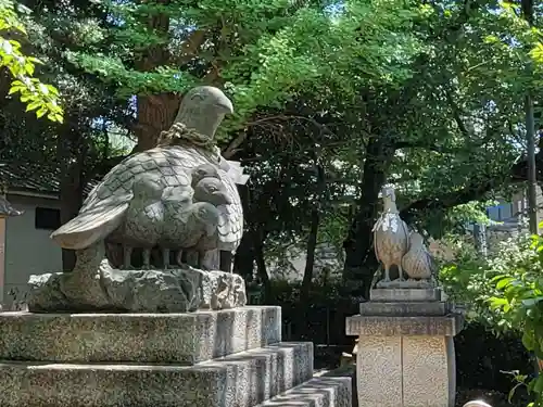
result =
[[[63,249],[81,250],[105,239],[123,221],[127,203],[84,211],[51,233],[51,239]]]

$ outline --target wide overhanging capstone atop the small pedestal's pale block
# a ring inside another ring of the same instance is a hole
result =
[[[443,335],[454,336],[463,328],[457,316],[386,317],[355,315],[346,318],[348,335]],[[359,351],[359,344],[358,344]]]

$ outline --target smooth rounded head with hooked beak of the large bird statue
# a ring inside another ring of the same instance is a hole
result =
[[[213,139],[225,115],[232,113],[232,102],[220,89],[199,86],[185,94],[174,123],[180,122],[187,128]]]

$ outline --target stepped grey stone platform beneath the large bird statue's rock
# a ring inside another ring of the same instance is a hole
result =
[[[272,306],[3,313],[0,359],[2,407],[351,406],[350,379],[312,379],[313,344],[281,342]]]

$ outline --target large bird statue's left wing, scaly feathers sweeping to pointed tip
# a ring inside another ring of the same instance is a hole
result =
[[[131,155],[112,168],[85,200],[79,214],[53,233],[61,247],[80,250],[105,239],[124,219],[134,198],[134,182],[142,177],[160,179],[162,188],[187,186],[187,166],[168,149],[152,149]]]

